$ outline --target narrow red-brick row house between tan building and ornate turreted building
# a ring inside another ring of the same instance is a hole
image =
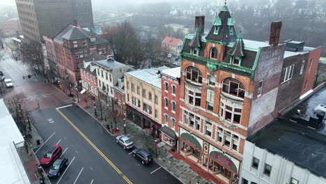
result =
[[[177,148],[180,121],[180,67],[162,70],[162,141]]]

